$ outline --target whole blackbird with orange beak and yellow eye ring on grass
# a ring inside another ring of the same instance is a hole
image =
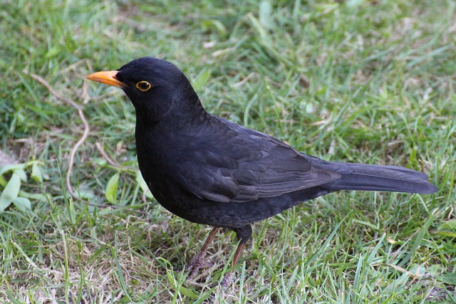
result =
[[[252,223],[302,201],[338,190],[437,191],[421,172],[326,162],[209,114],[184,73],[167,61],[138,58],[86,78],[122,88],[133,103],[138,164],[155,199],[177,216],[214,227],[190,277],[218,228],[237,234],[234,266],[252,236]]]

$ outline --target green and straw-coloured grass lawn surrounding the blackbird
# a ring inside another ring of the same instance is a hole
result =
[[[455,303],[452,1],[6,1],[0,150],[23,164],[0,214],[1,303]],[[214,287],[236,240],[217,234],[195,281],[179,271],[209,227],[138,185],[133,107],[84,75],[140,56],[176,63],[204,107],[323,159],[423,170],[435,195],[342,192],[254,224],[233,288]],[[76,100],[78,112],[26,69]],[[83,103],[86,100],[86,103]],[[37,161],[37,162],[36,162]],[[111,184],[115,204],[105,197]],[[24,179],[24,175],[26,179]],[[13,178],[0,179],[0,191]],[[113,190],[114,189],[114,190]],[[27,206],[27,200],[30,207]]]

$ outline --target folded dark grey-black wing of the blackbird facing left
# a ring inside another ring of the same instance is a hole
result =
[[[221,120],[219,117],[217,119]],[[316,187],[341,177],[311,167],[306,155],[261,132],[223,120],[190,140],[179,164],[182,187],[212,201],[253,201]]]

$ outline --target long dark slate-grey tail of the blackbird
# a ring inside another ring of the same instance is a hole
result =
[[[328,184],[331,191],[365,190],[431,194],[438,190],[427,182],[426,174],[403,167],[339,162],[326,164],[330,164],[334,171],[341,174],[340,179]]]

